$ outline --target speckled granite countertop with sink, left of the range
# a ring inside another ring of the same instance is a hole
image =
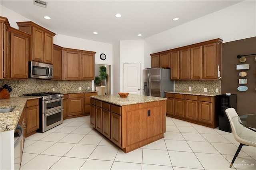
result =
[[[18,125],[22,111],[27,100],[39,99],[40,97],[11,97],[10,99],[1,99],[0,108],[14,108],[12,112],[0,113],[0,132],[14,130]]]

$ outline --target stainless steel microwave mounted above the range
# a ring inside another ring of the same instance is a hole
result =
[[[37,79],[52,79],[52,64],[29,61],[29,77]]]

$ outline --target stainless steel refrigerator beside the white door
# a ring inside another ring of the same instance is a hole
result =
[[[164,91],[174,90],[174,81],[170,81],[170,69],[150,68],[142,72],[143,95],[165,97]]]

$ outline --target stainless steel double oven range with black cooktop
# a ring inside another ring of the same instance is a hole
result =
[[[45,132],[63,123],[63,94],[60,93],[30,93],[23,96],[40,96],[40,128]]]

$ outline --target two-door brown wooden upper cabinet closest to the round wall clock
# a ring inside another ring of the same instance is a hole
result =
[[[63,48],[62,79],[64,80],[94,80],[93,51]]]

